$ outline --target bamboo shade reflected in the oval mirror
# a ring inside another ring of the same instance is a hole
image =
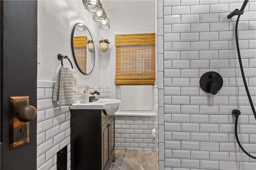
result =
[[[86,36],[74,37],[74,53],[76,56],[76,62],[84,73],[86,73],[86,44]]]

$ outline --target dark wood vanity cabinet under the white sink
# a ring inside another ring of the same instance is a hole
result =
[[[115,160],[115,115],[70,110],[71,169],[107,170]]]

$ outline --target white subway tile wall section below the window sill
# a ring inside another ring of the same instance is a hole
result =
[[[116,116],[115,119],[116,149],[155,150],[154,116]]]

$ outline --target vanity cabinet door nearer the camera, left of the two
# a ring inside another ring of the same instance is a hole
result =
[[[106,170],[110,162],[110,149],[109,149],[109,121],[102,125],[101,129],[101,139],[102,139],[102,150],[101,150],[101,169]]]

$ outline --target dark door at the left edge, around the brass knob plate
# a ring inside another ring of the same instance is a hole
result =
[[[29,96],[36,107],[37,1],[1,0],[1,170],[36,169],[36,119],[30,143],[9,149],[9,98]]]

